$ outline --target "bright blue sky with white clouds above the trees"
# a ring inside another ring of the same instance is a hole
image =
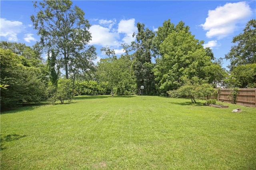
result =
[[[105,56],[100,48],[108,45],[117,55],[123,53],[121,43],[134,40],[136,23],[156,31],[165,20],[175,25],[183,21],[214,57],[225,57],[232,38],[243,32],[246,23],[256,18],[256,1],[78,1],[85,18],[92,25],[90,45],[97,48],[98,59]],[[30,16],[36,15],[32,1],[0,1],[0,39],[34,45],[39,37],[33,30]],[[224,60],[223,67],[229,61]]]

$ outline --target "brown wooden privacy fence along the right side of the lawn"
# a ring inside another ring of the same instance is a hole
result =
[[[236,101],[232,95],[233,89],[219,89],[218,101],[236,103],[237,105],[256,107],[256,88],[238,89]]]

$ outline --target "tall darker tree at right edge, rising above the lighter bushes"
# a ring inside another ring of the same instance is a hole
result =
[[[256,63],[256,19],[250,20],[243,31],[233,38],[232,43],[236,45],[225,55],[230,59],[230,70],[237,65]]]

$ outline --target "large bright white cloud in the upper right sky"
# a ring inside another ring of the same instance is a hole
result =
[[[252,13],[246,2],[227,3],[215,10],[209,10],[205,23],[200,26],[207,30],[207,38],[221,39],[232,34],[238,24],[246,23]]]

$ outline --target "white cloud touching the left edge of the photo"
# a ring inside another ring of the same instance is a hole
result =
[[[18,41],[17,35],[22,32],[24,26],[20,21],[10,21],[0,18],[0,36],[7,38],[8,41]]]

